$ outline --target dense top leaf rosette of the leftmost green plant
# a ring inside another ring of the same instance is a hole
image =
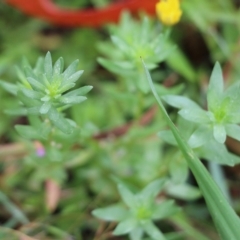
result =
[[[24,72],[18,71],[21,80],[18,86],[4,82],[1,84],[7,91],[18,96],[24,105],[22,112],[26,110],[26,114],[49,119],[64,133],[72,133],[74,122],[65,119],[60,111],[86,100],[82,95],[92,89],[91,86],[87,86],[68,91],[75,86],[75,82],[83,73],[76,71],[77,65],[78,61],[75,61],[63,72],[63,59],[59,58],[52,67],[51,55],[47,53],[44,60],[39,58],[34,69],[28,63],[24,63]]]

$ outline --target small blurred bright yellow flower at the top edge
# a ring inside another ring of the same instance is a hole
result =
[[[161,0],[156,4],[156,12],[165,25],[174,25],[179,22],[182,11],[179,0]]]

